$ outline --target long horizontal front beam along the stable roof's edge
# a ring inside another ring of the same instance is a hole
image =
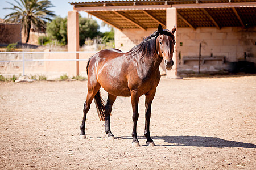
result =
[[[73,7],[76,11],[129,11],[129,10],[166,10],[175,7],[177,9],[187,8],[232,8],[232,7],[256,7],[256,2],[232,2],[232,3],[185,3],[173,5],[135,5],[135,6],[94,6],[94,7]]]

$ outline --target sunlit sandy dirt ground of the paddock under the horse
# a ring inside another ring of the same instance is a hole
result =
[[[88,138],[79,138],[86,83],[0,82],[0,169],[256,169],[255,75],[162,77],[150,124],[156,146],[143,137],[142,96],[137,148],[130,97],[114,104],[117,139],[106,138],[94,103]]]

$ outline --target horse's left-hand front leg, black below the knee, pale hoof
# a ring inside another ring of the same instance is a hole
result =
[[[133,107],[133,133],[131,133],[131,136],[133,137],[132,145],[135,147],[140,146],[137,138],[137,121],[139,118],[138,104],[139,104],[138,92],[136,90],[131,91],[131,106]]]

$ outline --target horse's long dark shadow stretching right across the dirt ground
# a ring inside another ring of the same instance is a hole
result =
[[[124,139],[126,137],[121,137]],[[144,137],[138,137],[144,138]],[[195,146],[195,147],[243,147],[243,148],[256,148],[256,145],[253,143],[243,143],[236,141],[228,141],[216,137],[200,137],[200,136],[152,136],[153,140],[164,140],[169,144],[160,144],[157,142],[156,146]]]

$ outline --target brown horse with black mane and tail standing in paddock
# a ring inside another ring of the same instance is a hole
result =
[[[150,137],[151,104],[156,86],[160,80],[159,65],[164,59],[166,69],[170,70],[174,61],[176,25],[169,31],[159,24],[158,31],[144,38],[141,44],[134,46],[129,52],[122,53],[118,49],[106,49],[94,54],[87,63],[88,94],[84,104],[84,118],[81,124],[80,138],[85,136],[85,120],[90,104],[94,98],[100,120],[105,120],[105,131],[109,139],[114,139],[110,131],[110,113],[117,96],[131,96],[133,108],[133,146],[139,146],[137,139],[138,101],[146,96],[146,122],[144,135],[147,145],[154,146]],[[104,106],[100,88],[108,92]]]

